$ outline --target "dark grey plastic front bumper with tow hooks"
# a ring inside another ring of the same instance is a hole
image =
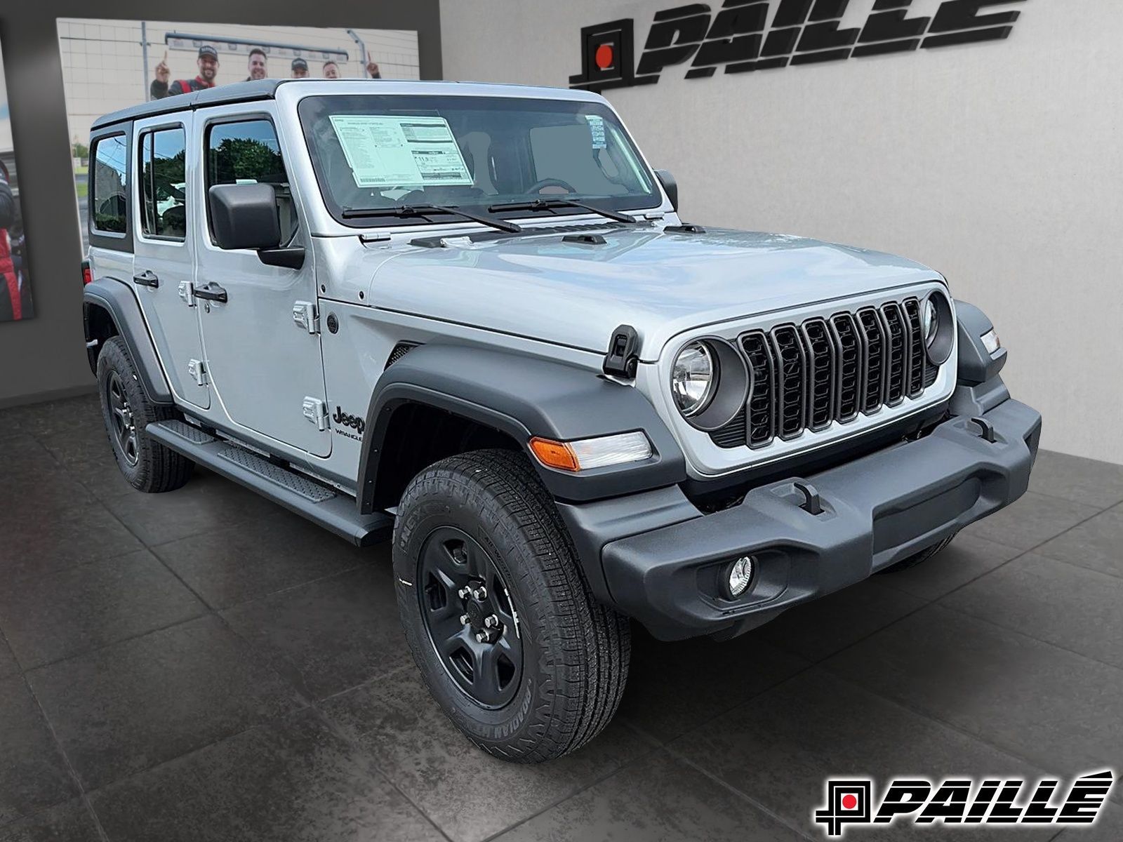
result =
[[[1041,415],[1008,400],[982,418],[993,434],[955,417],[917,441],[755,488],[715,514],[683,520],[681,505],[665,506],[672,523],[658,527],[650,510],[638,514],[645,531],[600,552],[606,596],[656,637],[723,637],[860,582],[1025,492]],[[802,507],[795,482],[819,492],[820,514]],[[745,555],[756,559],[754,582],[725,600],[720,576]]]

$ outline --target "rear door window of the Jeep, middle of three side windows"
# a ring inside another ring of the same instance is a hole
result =
[[[140,135],[140,230],[147,237],[188,236],[186,136],[180,129]]]

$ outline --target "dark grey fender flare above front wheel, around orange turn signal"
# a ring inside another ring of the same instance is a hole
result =
[[[678,443],[634,387],[599,370],[513,351],[422,345],[390,366],[375,384],[359,460],[360,512],[373,511],[386,432],[394,412],[408,403],[440,409],[510,436],[557,500],[601,500],[686,478]],[[548,468],[529,454],[533,436],[572,441],[634,430],[650,440],[650,459],[574,474]]]

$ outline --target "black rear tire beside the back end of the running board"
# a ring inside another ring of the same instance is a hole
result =
[[[113,378],[127,401],[136,428],[135,464],[126,456],[115,433],[113,411],[110,406],[110,383]],[[172,406],[154,404],[145,395],[133,358],[120,337],[107,339],[98,355],[98,391],[109,445],[113,449],[117,466],[129,485],[152,494],[182,487],[190,478],[194,463],[154,441],[145,432],[145,427],[153,421],[167,421],[179,415]]]

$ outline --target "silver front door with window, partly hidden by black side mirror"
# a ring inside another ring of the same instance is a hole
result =
[[[206,193],[216,184],[272,184],[282,245],[309,247],[270,116],[238,112],[237,107],[207,113],[200,187]],[[209,220],[195,229],[195,289],[225,292],[225,301],[199,301],[207,366],[221,408],[239,427],[328,456],[331,430],[316,332],[311,248],[299,269],[266,266],[256,251],[220,249],[210,230]],[[298,323],[294,309],[304,315],[303,323]]]

